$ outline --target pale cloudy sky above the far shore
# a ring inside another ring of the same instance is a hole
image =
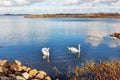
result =
[[[120,13],[120,0],[0,0],[0,14]]]

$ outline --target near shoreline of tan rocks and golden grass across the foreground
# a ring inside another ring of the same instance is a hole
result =
[[[67,73],[62,74],[58,70],[51,76],[46,72],[22,65],[18,60],[8,62],[0,60],[0,79],[4,80],[119,80],[120,61],[119,60],[100,60],[99,63],[93,60],[86,60],[80,67],[75,69],[68,67]]]

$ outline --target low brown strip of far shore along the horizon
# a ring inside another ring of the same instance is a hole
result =
[[[120,18],[120,14],[95,13],[95,14],[29,14],[24,18]]]

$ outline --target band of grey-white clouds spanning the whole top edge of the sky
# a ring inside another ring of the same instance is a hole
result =
[[[23,6],[34,4],[38,2],[48,2],[49,5],[51,3],[55,3],[56,5],[82,5],[82,6],[99,6],[102,5],[110,5],[110,6],[120,6],[120,0],[0,0],[0,6]],[[49,2],[50,1],[50,2]]]

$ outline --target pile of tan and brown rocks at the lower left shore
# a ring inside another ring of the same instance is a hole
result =
[[[0,80],[51,80],[44,71],[23,66],[18,60],[0,60]]]

